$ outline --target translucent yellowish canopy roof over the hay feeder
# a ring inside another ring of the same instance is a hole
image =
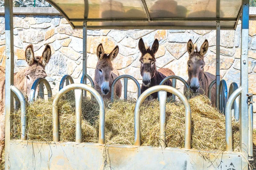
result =
[[[46,0],[74,29],[236,29],[241,0]]]

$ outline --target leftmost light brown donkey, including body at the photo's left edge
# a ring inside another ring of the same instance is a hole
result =
[[[26,48],[26,62],[28,66],[20,72],[14,73],[14,86],[29,96],[30,89],[34,81],[38,78],[45,78],[45,65],[51,57],[51,48],[46,45],[42,56],[34,56],[32,44]],[[5,140],[5,68],[0,66],[0,161]]]

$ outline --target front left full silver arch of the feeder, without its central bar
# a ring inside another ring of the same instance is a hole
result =
[[[58,101],[59,99],[68,91],[73,89],[83,89],[88,92],[90,92],[94,98],[96,98],[96,101],[99,104],[99,144],[105,143],[105,107],[102,97],[99,95],[99,93],[93,89],[90,86],[87,86],[86,84],[70,84],[68,86],[65,86],[61,91],[57,93],[53,100],[52,104],[52,134],[53,134],[53,141],[57,142],[59,141],[59,122],[58,122]],[[81,129],[81,124],[79,125],[79,128]],[[77,130],[77,129],[76,129]]]

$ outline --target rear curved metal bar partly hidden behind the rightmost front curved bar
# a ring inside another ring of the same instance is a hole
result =
[[[228,98],[230,98],[230,95],[238,89],[237,83],[233,82],[230,84],[230,88],[228,90]],[[232,104],[232,115],[236,118],[236,120],[239,120],[239,112],[240,112],[240,99],[239,97],[236,98],[234,103]]]

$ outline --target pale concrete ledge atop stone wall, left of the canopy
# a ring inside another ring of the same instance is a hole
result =
[[[60,15],[57,9],[52,7],[14,7],[13,14],[40,14],[40,15]],[[0,15],[4,15],[4,7],[0,8]]]

